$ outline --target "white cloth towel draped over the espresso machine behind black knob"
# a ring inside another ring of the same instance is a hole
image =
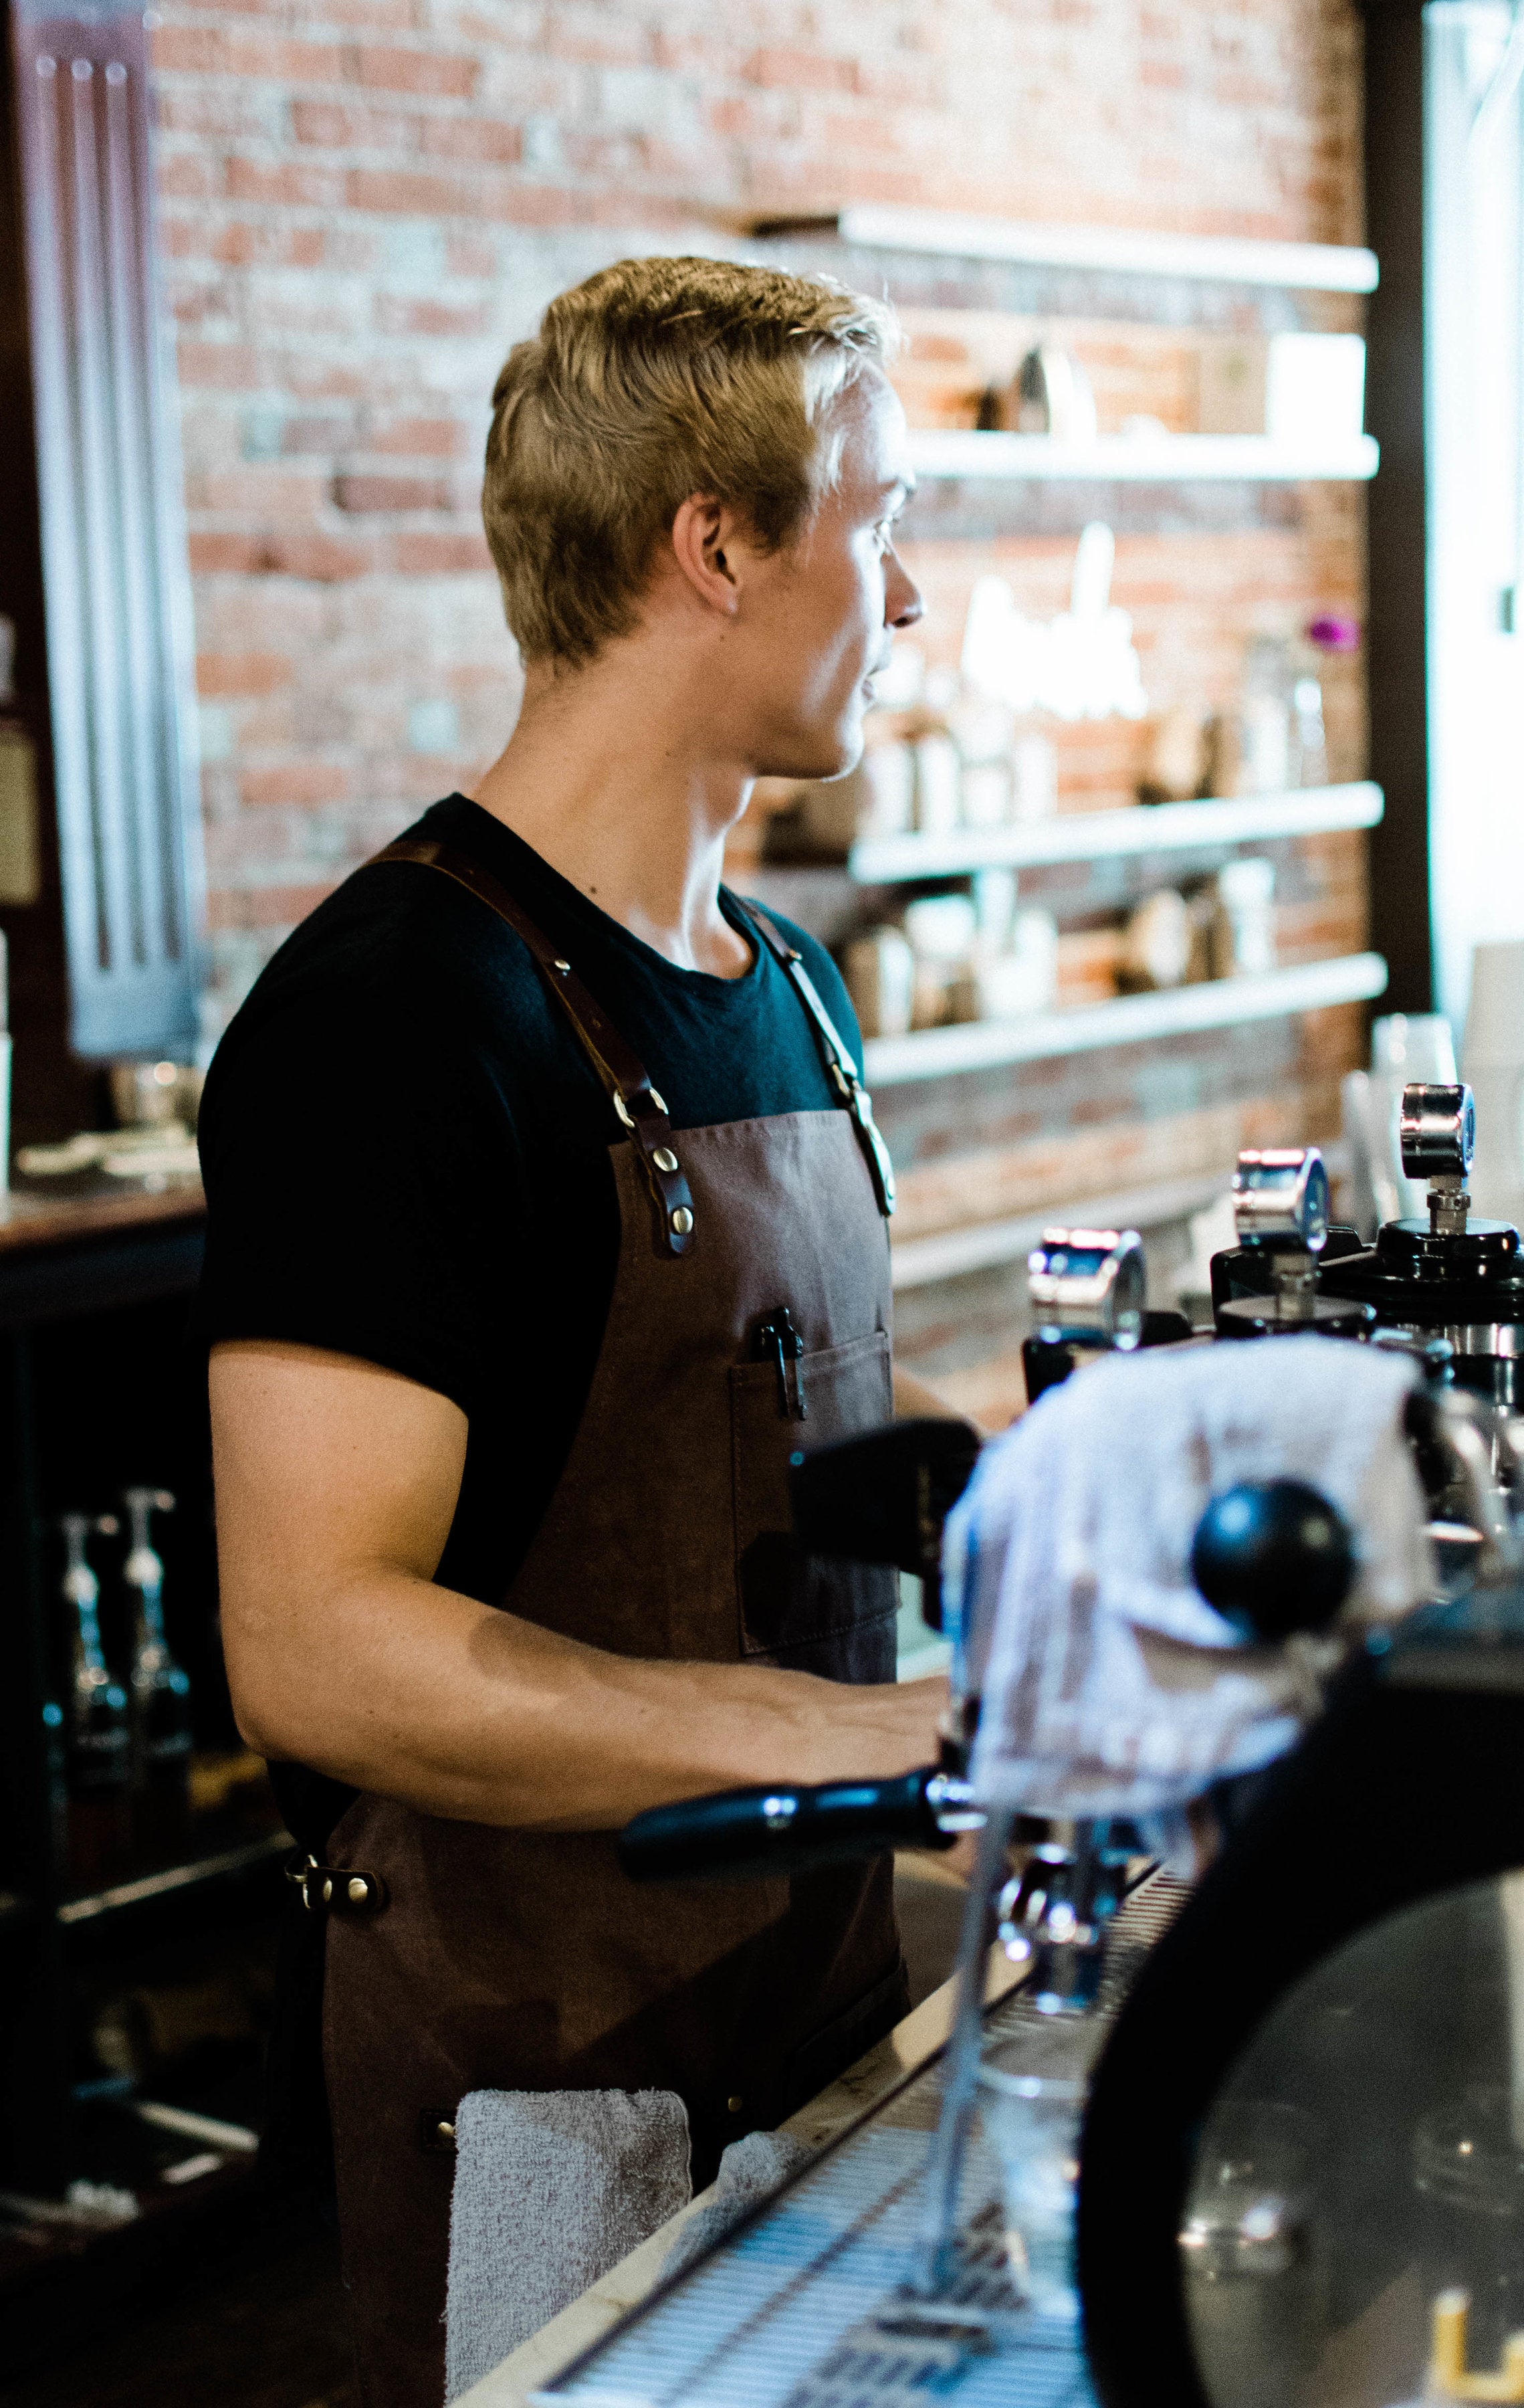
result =
[[[980,1457],[946,1534],[982,1719],[980,1796],[1059,1816],[1156,1816],[1286,1753],[1351,1625],[1425,1594],[1423,1491],[1401,1433],[1413,1365],[1348,1339],[1110,1356]],[[1242,1647],[1192,1587],[1211,1495],[1298,1479],[1358,1546],[1339,1635]]]

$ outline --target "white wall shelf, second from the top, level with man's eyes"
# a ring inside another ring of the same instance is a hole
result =
[[[920,426],[910,433],[915,474],[927,482],[1074,482],[1199,484],[1237,479],[1247,484],[1310,484],[1346,479],[1363,484],[1380,467],[1375,436],[1353,436],[1317,448],[1276,443],[1271,436],[1095,436],[1093,443],[1059,443],[1057,436],[985,433],[975,426]]]

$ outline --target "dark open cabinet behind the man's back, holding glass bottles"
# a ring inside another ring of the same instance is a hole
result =
[[[178,1500],[156,1546],[169,1640],[193,1681],[193,1782],[205,1792],[207,1775],[238,1765],[217,1628],[205,1377],[188,1339],[200,1255],[200,1190],[22,1206],[0,1223],[0,2191],[58,2199],[77,2177],[125,2184],[140,2215],[101,2242],[132,2264],[176,2247],[185,2218],[219,2201],[231,2211],[253,2191],[253,2155],[236,2150],[195,2182],[164,2182],[164,2167],[197,2143],[144,2126],[132,2102],[147,2095],[258,2124],[291,1854],[248,1760],[238,1804],[200,1799],[178,1861],[125,1864],[106,1888],[82,1888],[60,1830],[70,1609],[58,1515],[120,1512],[128,1483]],[[125,1589],[108,1544],[96,1570],[120,1674]],[[226,1996],[248,2003],[241,2032],[219,2006]],[[156,2011],[178,2018],[173,2047],[147,2068],[123,2066],[101,2044],[104,2028]],[[65,2230],[51,2235],[58,2247],[39,2247],[36,2235],[0,2230],[0,2326],[26,2321],[39,2283],[46,2292],[65,2261],[89,2273],[96,2242],[82,2256],[84,2239]]]

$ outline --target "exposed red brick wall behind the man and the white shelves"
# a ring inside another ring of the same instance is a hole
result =
[[[1358,241],[1353,0],[164,0],[154,65],[221,1009],[513,722],[479,450],[508,344],[563,284],[638,248],[888,284],[922,424],[963,414],[1033,327],[1062,323],[1081,349],[1103,426],[1134,409],[1189,426],[1201,335],[1358,323],[1317,296],[742,231],[857,197]],[[929,655],[956,657],[985,568],[1023,609],[1059,609],[1088,515],[1117,530],[1115,597],[1160,703],[1225,703],[1257,626],[1363,607],[1348,489],[929,491],[910,527]],[[1358,662],[1329,681],[1329,739],[1334,771],[1358,775]],[[1139,742],[1120,722],[1067,732],[1064,807],[1127,799]],[[1281,860],[1288,956],[1358,944],[1360,843]],[[1083,925],[1129,877],[1052,872],[1033,893]],[[816,903],[840,920],[840,891]],[[1355,1014],[1324,1014],[898,1091],[908,1223],[1228,1161],[1245,1134],[1329,1134],[1358,1045]],[[980,1296],[949,1296],[953,1339],[917,1305],[927,1361],[977,1361]]]

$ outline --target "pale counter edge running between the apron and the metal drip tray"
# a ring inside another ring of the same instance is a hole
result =
[[[1016,1989],[1018,1982],[1021,1972],[1009,1963],[1004,1950],[992,1948],[985,1975],[985,2001],[992,2006]],[[903,2023],[896,2023],[893,2032],[876,2049],[860,2056],[809,2107],[792,2114],[782,2131],[807,2141],[809,2148],[823,2148],[826,2141],[840,2138],[847,2126],[881,2112],[896,2090],[903,2090],[932,2064],[946,2044],[951,2023],[953,1984],[944,1982]],[[479,2384],[462,2391],[455,2408],[527,2408],[530,2394],[551,2382],[561,2367],[592,2348],[595,2341],[602,2341],[631,2307],[638,2307],[657,2288],[672,2242],[689,2218],[705,2208],[710,2196],[710,2191],[701,2191],[691,2199],[648,2242],[640,2242],[619,2266],[612,2266],[607,2276],[592,2283],[580,2300],[573,2300],[559,2316],[551,2316],[537,2333],[530,2333],[501,2367],[494,2367]]]

